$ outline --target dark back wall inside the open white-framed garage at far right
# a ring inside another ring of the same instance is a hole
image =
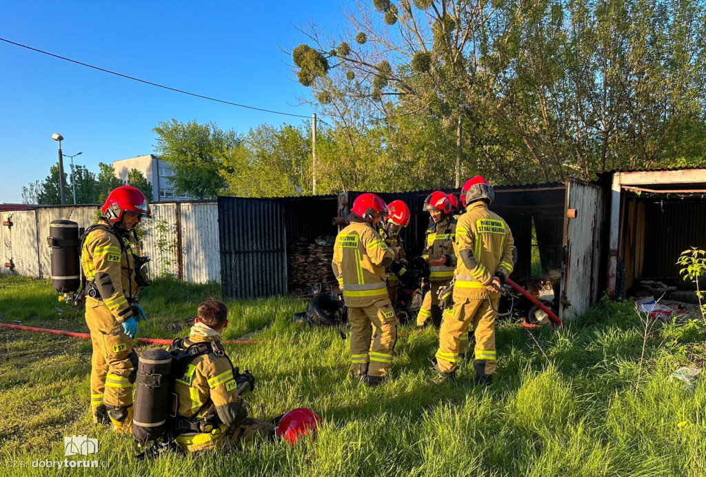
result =
[[[679,278],[684,250],[706,250],[706,200],[647,200],[645,278]]]

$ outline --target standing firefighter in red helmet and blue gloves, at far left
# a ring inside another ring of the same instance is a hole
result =
[[[95,423],[129,433],[138,357],[132,339],[145,320],[137,304],[138,282],[130,236],[150,217],[145,195],[131,186],[116,188],[101,208],[104,217],[89,227],[81,246],[86,284],[86,323],[93,345],[91,409]],[[131,234],[132,232],[132,234]]]

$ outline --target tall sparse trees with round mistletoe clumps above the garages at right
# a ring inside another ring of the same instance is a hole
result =
[[[388,150],[403,115],[424,118],[444,136],[460,131],[462,169],[495,181],[590,179],[706,155],[702,0],[355,6],[342,35],[305,27],[311,41],[292,51],[335,130],[382,131]],[[448,157],[453,143],[443,144],[436,155]]]

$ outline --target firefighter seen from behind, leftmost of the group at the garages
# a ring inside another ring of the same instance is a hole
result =
[[[388,377],[397,341],[385,268],[395,272],[400,247],[387,246],[373,228],[386,215],[387,206],[377,195],[359,195],[347,217],[349,225],[336,236],[331,262],[348,308],[353,374],[371,386]]]

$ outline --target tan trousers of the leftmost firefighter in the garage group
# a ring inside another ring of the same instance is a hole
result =
[[[351,363],[357,376],[388,375],[397,342],[397,317],[390,298],[370,306],[349,307]]]

